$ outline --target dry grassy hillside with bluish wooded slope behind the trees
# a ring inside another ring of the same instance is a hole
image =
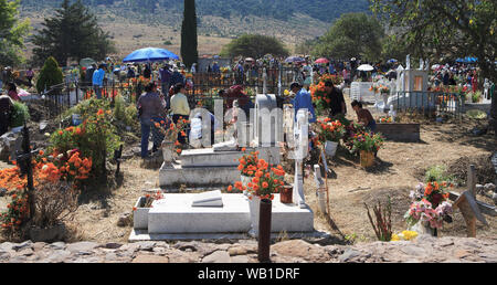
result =
[[[179,52],[183,0],[82,0],[97,15],[119,51],[161,46]],[[21,0],[21,18],[35,29],[62,0]],[[346,12],[368,11],[368,0],[197,0],[200,54],[215,54],[230,39],[261,33],[296,44],[322,35]],[[32,50],[27,41],[28,56]]]

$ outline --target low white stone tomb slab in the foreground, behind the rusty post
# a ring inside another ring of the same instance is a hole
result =
[[[201,197],[207,194],[205,197]],[[239,234],[248,238],[251,214],[248,199],[244,194],[220,191],[202,194],[166,193],[155,201],[148,212],[148,231],[134,230],[130,241],[163,239],[204,239],[212,234]],[[195,207],[202,201],[222,200],[222,205]],[[200,199],[200,200],[199,200]],[[273,233],[314,233],[314,213],[294,204],[283,204],[275,194],[272,211]]]

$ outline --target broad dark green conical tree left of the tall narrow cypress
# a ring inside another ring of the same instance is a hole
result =
[[[99,27],[96,17],[77,0],[73,4],[64,0],[53,18],[45,19],[44,27],[34,35],[33,62],[43,63],[54,56],[62,65],[67,60],[80,61],[84,57],[103,60],[113,53],[114,46],[108,33]]]

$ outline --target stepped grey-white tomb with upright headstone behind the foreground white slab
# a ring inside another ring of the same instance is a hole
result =
[[[239,159],[252,151],[268,163],[281,163],[278,141],[283,135],[283,112],[275,110],[275,95],[257,95],[252,122],[254,134],[243,134],[241,139],[254,138],[246,151],[239,151],[235,139],[214,145],[212,148],[184,150],[172,166],[163,163],[159,171],[160,188],[226,187],[240,181]],[[272,117],[266,117],[266,115]],[[240,139],[240,138],[239,138]]]

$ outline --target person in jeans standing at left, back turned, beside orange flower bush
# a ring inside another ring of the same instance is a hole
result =
[[[141,125],[141,158],[147,158],[150,128],[154,141],[152,152],[156,152],[161,144],[161,136],[155,124],[163,120],[166,110],[166,102],[157,93],[157,86],[154,83],[145,86],[145,93],[138,98],[137,108]]]

